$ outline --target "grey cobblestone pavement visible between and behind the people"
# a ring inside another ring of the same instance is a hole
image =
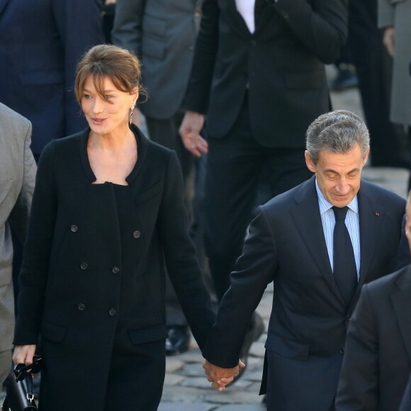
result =
[[[332,77],[332,67],[327,67]],[[363,116],[357,89],[332,93],[334,109],[345,108]],[[144,122],[142,123],[144,129]],[[366,167],[364,179],[379,184],[400,196],[407,192],[408,171],[405,169]],[[270,284],[257,311],[268,325],[273,288]],[[159,411],[260,411],[265,410],[258,395],[264,359],[266,334],[252,344],[246,371],[237,383],[220,393],[210,388],[202,363],[203,357],[191,339],[191,349],[179,356],[167,357],[167,371]],[[1,398],[1,397],[0,397]],[[0,399],[1,404],[1,399]],[[144,411],[144,410],[142,410]]]

